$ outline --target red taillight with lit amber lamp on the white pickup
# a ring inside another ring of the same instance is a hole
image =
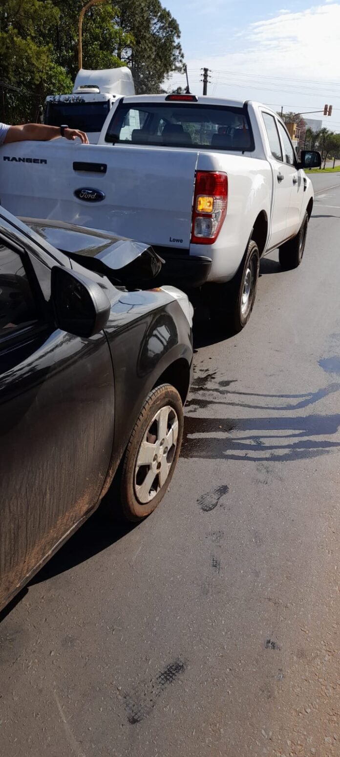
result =
[[[227,213],[228,177],[221,171],[197,171],[193,195],[191,242],[213,245]]]

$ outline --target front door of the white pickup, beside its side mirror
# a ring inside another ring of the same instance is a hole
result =
[[[304,181],[298,170],[298,158],[292,145],[289,133],[283,123],[277,122],[283,146],[283,161],[286,164],[286,176],[291,185],[289,206],[287,209],[287,232],[295,236],[301,225],[301,210],[304,201]]]

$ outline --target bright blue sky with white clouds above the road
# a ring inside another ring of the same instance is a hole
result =
[[[286,3],[286,5],[284,5]],[[280,110],[323,111],[323,126],[340,132],[340,2],[311,0],[162,0],[178,20],[190,89],[258,100]],[[172,86],[185,86],[175,73]],[[306,115],[308,118],[308,115]]]

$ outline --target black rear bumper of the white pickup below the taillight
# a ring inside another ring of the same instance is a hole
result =
[[[156,278],[157,284],[171,284],[187,290],[202,286],[208,279],[212,267],[210,257],[169,252],[156,246],[153,249],[165,260]]]

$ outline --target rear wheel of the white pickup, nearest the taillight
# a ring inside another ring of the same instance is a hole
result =
[[[227,284],[212,286],[210,313],[219,331],[238,334],[248,323],[255,303],[259,269],[258,245],[251,239],[236,276]]]

